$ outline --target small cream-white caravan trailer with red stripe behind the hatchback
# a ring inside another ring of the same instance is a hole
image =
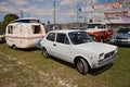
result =
[[[32,48],[46,35],[44,26],[37,18],[18,18],[6,26],[5,40],[13,49]]]

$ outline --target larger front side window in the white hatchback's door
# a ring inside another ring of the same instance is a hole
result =
[[[69,45],[69,41],[68,41],[66,34],[57,34],[56,42]]]

